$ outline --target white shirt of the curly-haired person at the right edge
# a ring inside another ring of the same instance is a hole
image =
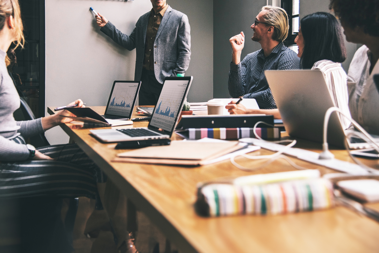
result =
[[[370,74],[371,52],[363,45],[354,54],[348,71],[349,108],[352,118],[370,134],[379,134],[379,93],[373,75],[379,73],[379,61]]]

